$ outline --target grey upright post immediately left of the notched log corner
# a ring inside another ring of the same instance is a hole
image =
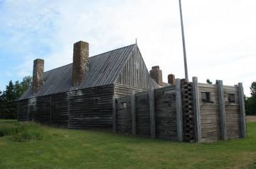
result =
[[[178,141],[183,141],[182,105],[181,105],[181,80],[176,78],[176,118]]]

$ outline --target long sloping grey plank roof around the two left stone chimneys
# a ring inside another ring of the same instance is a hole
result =
[[[19,100],[113,84],[134,47],[136,47],[136,45],[129,45],[95,55],[94,57],[89,57],[90,70],[87,72],[80,86],[72,86],[73,64],[46,71],[43,74],[44,83],[40,90],[37,93],[33,93],[32,87],[30,86]]]

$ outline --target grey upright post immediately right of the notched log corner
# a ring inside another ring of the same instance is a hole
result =
[[[195,115],[195,141],[201,142],[200,107],[198,98],[198,78],[193,77],[193,110]]]

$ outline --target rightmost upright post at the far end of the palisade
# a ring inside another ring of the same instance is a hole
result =
[[[246,122],[245,122],[245,100],[244,100],[242,83],[238,83],[238,93],[239,93],[241,132],[242,132],[242,137],[246,137],[247,131],[246,131]]]

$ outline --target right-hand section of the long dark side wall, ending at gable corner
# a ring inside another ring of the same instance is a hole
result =
[[[70,91],[69,128],[112,130],[113,85]]]

